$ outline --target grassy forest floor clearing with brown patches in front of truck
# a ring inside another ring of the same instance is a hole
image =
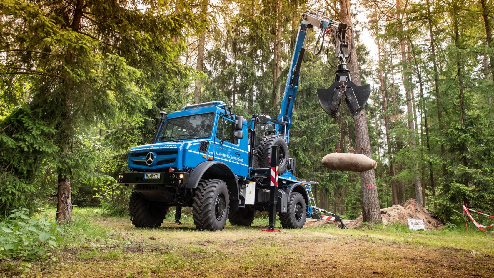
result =
[[[0,277],[494,277],[490,233],[414,232],[401,224],[261,232],[266,219],[202,232],[192,218],[180,226],[171,219],[137,229],[127,217],[76,211],[78,231],[66,232],[52,259],[29,262],[23,273],[15,270],[20,262],[0,262]]]

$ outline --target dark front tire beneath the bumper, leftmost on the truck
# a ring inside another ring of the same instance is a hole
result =
[[[132,191],[128,202],[128,215],[137,228],[160,227],[167,209],[165,203],[146,200],[135,191]]]

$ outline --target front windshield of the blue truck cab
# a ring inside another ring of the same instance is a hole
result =
[[[211,135],[214,113],[183,116],[167,119],[159,141],[197,139]]]

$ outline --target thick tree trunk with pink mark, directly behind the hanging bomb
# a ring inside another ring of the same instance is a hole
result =
[[[343,23],[352,26],[352,14],[350,12],[350,0],[339,0],[340,20]],[[360,70],[357,64],[357,50],[352,47],[352,59],[348,64],[352,81],[360,86]],[[372,158],[371,142],[369,139],[369,130],[367,127],[366,109],[363,109],[354,117],[355,138],[357,141],[357,152]],[[381,223],[381,211],[379,207],[379,197],[377,195],[377,186],[375,183],[374,170],[366,171],[360,174],[360,183],[362,187],[362,212],[364,221],[370,223]]]

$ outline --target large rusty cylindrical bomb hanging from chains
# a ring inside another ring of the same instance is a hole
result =
[[[326,168],[338,171],[365,172],[377,167],[375,160],[356,153],[329,153],[322,162]]]

